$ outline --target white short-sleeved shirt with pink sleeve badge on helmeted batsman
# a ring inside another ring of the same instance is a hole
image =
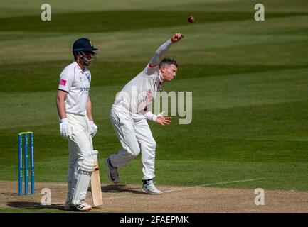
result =
[[[60,74],[58,89],[68,92],[65,99],[67,113],[85,116],[90,84],[91,73],[87,68],[84,71],[81,70],[77,62],[64,68]]]

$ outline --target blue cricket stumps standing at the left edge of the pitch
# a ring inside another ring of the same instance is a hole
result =
[[[22,132],[18,134],[18,194],[23,195],[23,166],[25,172],[25,195],[28,195],[28,134],[30,135],[30,175],[31,194],[34,194],[34,135],[33,132]],[[24,154],[23,154],[24,141]],[[24,160],[23,160],[24,155]]]

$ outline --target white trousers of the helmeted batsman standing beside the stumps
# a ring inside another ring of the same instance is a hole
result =
[[[73,196],[78,178],[80,176],[80,165],[85,155],[93,150],[92,138],[90,137],[90,123],[87,116],[78,114],[66,114],[68,123],[73,128],[72,139],[68,139],[68,197]]]

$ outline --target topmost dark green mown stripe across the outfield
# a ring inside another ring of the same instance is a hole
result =
[[[63,13],[53,16],[48,23],[38,20],[38,16],[2,18],[0,31],[33,31],[40,27],[41,32],[85,33],[142,30],[144,28],[164,28],[181,26],[187,23],[187,15],[198,18],[198,23],[230,22],[248,20],[250,11],[100,11]],[[270,12],[267,18],[290,18],[307,16],[306,12]],[[164,18],[157,20],[157,18]],[[179,19],[181,18],[181,19]],[[65,21],[65,23],[63,23]],[[88,26],[88,25],[91,26]],[[104,26],[102,26],[104,25]],[[115,26],[117,25],[117,26]]]

